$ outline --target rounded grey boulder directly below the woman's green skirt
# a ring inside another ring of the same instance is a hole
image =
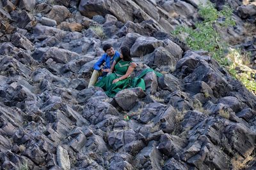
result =
[[[123,110],[131,110],[137,103],[137,99],[137,94],[129,89],[121,90],[115,96],[116,103],[118,103]]]

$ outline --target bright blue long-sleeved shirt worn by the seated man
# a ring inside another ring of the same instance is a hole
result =
[[[111,67],[112,64],[113,64],[113,61],[114,61],[115,59],[117,59],[118,57],[120,57],[120,53],[117,52],[117,51],[115,51],[115,55],[113,55],[112,59],[111,59],[110,56],[108,56],[108,54],[104,53],[104,54],[100,57],[100,59],[94,64],[93,69],[99,71],[99,70],[101,69],[100,66],[102,66],[102,64],[103,64],[104,62],[105,62],[105,65],[104,65],[103,69],[110,69],[110,67]]]

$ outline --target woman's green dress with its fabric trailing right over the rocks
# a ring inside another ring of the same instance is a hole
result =
[[[153,69],[145,69],[140,73],[139,76],[136,76],[135,78],[127,77],[124,80],[112,83],[113,80],[115,80],[116,78],[120,78],[126,73],[131,62],[132,61],[124,60],[118,61],[115,65],[115,73],[111,73],[108,76],[104,76],[95,84],[95,86],[101,87],[109,97],[114,97],[116,93],[120,90],[132,87],[141,87],[141,89],[145,90],[145,81],[142,78],[148,72],[154,71]],[[160,73],[157,73],[157,76],[160,75]]]

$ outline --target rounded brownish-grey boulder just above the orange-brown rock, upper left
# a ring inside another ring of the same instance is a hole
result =
[[[54,5],[51,11],[47,14],[48,18],[56,20],[57,24],[63,22],[66,18],[70,16],[70,11],[65,6]]]

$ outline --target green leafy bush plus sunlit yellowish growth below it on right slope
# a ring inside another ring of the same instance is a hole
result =
[[[193,50],[209,52],[213,59],[227,68],[233,78],[240,80],[248,90],[256,93],[256,81],[250,76],[250,74],[255,73],[253,71],[243,71],[243,74],[241,74],[237,70],[237,67],[250,65],[250,53],[229,48],[228,43],[221,38],[220,29],[236,24],[232,18],[232,11],[232,8],[227,4],[223,6],[221,11],[217,11],[210,2],[204,6],[200,5],[198,14],[202,21],[196,22],[195,28],[177,27],[172,35],[186,41]],[[249,69],[246,68],[246,70]]]

